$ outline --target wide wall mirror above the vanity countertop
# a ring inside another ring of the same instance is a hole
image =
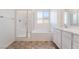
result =
[[[70,26],[79,26],[78,10],[64,11],[64,24]]]

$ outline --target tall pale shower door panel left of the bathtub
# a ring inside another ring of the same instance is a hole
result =
[[[16,10],[16,37],[27,37],[27,10]]]

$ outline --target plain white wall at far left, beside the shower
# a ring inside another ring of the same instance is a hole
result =
[[[15,11],[0,10],[0,48],[6,48],[14,40],[15,40]]]

